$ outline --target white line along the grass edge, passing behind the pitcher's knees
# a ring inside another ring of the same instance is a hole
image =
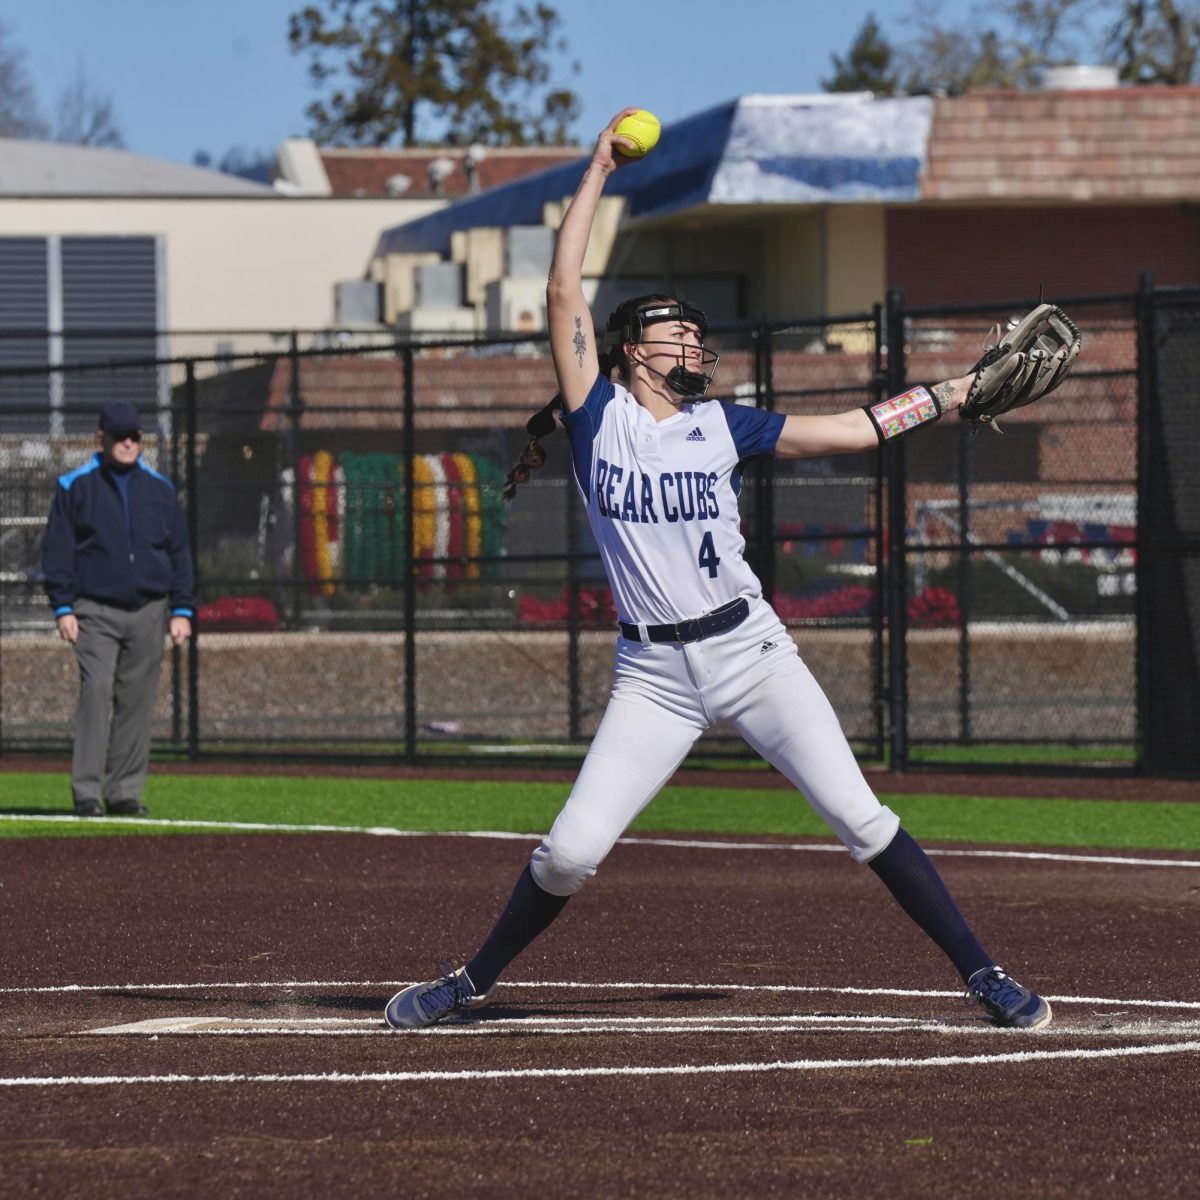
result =
[[[0,812],[0,821],[49,822],[54,824],[95,826],[97,817],[66,815],[37,815]],[[283,824],[268,821],[198,821],[174,817],[119,817],[120,827],[148,826],[163,829],[216,829],[235,833],[354,833],[372,838],[474,838],[494,841],[540,841],[540,833],[512,833],[505,829],[397,829],[391,826],[335,826],[335,824]],[[713,841],[689,838],[618,838],[618,846],[667,846],[677,850],[773,850],[844,854],[840,844],[784,842],[784,841]],[[1051,863],[1100,863],[1105,866],[1189,866],[1200,868],[1200,859],[1183,858],[1132,858],[1117,854],[1075,854],[1058,851],[1032,850],[938,850],[925,847],[930,856],[943,858],[1020,858]]]

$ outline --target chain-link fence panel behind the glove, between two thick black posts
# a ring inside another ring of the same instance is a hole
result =
[[[1068,307],[1086,349],[1051,400],[904,448],[910,762],[1135,754],[1134,308]],[[908,313],[910,377],[955,373],[1014,311]]]

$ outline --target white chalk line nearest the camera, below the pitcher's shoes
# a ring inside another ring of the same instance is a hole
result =
[[[101,1087],[157,1084],[424,1084],[478,1082],[509,1079],[602,1079],[655,1075],[752,1075],[808,1070],[864,1070],[912,1067],[997,1067],[1003,1063],[1044,1063],[1081,1058],[1134,1058],[1147,1055],[1193,1054],[1198,1042],[1172,1042],[1141,1046],[1106,1046],[1075,1050],[1020,1050],[1009,1054],[936,1055],[923,1058],[798,1058],[776,1062],[688,1063],[641,1067],[512,1067],[464,1070],[383,1070],[349,1074],[314,1072],[300,1074],[168,1074],[168,1075],[23,1075],[0,1079],[0,1087]]]

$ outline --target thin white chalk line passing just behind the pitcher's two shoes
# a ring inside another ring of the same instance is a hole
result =
[[[274,982],[217,982],[217,983],[121,983],[121,984],[58,984],[36,988],[0,988],[0,995],[72,995],[76,992],[122,992],[122,991],[242,991],[259,989],[263,991],[299,991],[307,988],[325,989],[361,989],[365,991],[396,991],[419,979],[288,979]],[[923,988],[822,988],[808,984],[786,983],[679,983],[677,980],[653,982],[611,982],[580,983],[574,979],[512,979],[503,980],[505,994],[523,989],[566,990],[566,991],[762,991],[796,995],[820,996],[911,996],[918,1000],[944,998],[961,996],[961,990],[944,991]],[[1116,1008],[1174,1008],[1200,1012],[1196,1000],[1120,1000],[1112,996],[1054,996],[1045,998],[1055,1004],[1105,1004]]]

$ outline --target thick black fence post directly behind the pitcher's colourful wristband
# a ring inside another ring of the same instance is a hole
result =
[[[905,308],[904,293],[888,288],[887,295],[888,360],[884,371],[886,391],[898,396],[905,389]],[[908,665],[905,635],[908,623],[906,596],[908,504],[906,487],[905,439],[893,438],[883,446],[884,470],[888,481],[888,709],[890,715],[889,760],[894,772],[908,767]]]

